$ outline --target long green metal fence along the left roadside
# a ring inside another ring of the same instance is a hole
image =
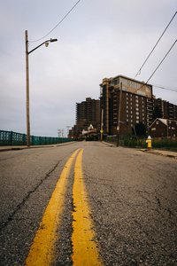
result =
[[[67,137],[37,137],[30,136],[30,145],[54,145],[74,141]],[[13,131],[0,130],[0,145],[27,145],[27,135]]]

